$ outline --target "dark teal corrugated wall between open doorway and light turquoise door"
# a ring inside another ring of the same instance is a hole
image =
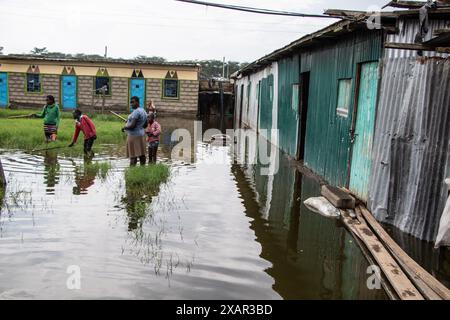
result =
[[[381,52],[381,32],[361,32],[301,56],[301,71],[310,72],[305,164],[333,185],[347,185],[354,107],[352,99],[349,116],[337,116],[338,80],[352,79],[354,96],[357,64],[378,61]]]

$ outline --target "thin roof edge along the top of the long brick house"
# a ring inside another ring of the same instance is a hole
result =
[[[28,55],[28,54],[8,54],[0,55],[0,59],[17,60],[17,61],[48,61],[48,62],[60,62],[60,63],[111,63],[111,64],[124,64],[124,65],[147,65],[147,66],[174,66],[174,67],[190,67],[200,68],[198,63],[183,63],[183,62],[150,62],[141,61],[136,59],[120,59],[120,58],[58,58],[49,57],[45,55]]]

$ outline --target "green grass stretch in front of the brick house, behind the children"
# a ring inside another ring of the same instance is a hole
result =
[[[44,142],[42,119],[7,119],[9,116],[35,112],[37,110],[0,109],[0,148],[32,151],[46,147],[65,147],[70,144],[75,130],[75,124],[69,112],[62,113],[58,130],[58,140],[49,145]],[[94,116],[92,118],[97,128],[96,144],[117,144],[125,142],[126,135],[120,131],[123,127],[122,121],[114,116],[106,115]],[[66,150],[66,152],[69,154],[80,154],[83,152],[82,133],[74,149]]]

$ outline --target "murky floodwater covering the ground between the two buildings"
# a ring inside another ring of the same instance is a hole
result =
[[[341,223],[302,205],[319,185],[285,157],[273,176],[235,164],[230,145],[171,159],[170,133],[193,133],[193,121],[160,119],[171,178],[137,200],[121,146],[96,146],[106,176],[57,151],[0,151],[0,298],[386,299],[367,288],[369,265]]]

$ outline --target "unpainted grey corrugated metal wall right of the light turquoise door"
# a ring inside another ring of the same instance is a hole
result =
[[[450,61],[386,58],[369,203],[375,217],[434,240],[447,188]]]

